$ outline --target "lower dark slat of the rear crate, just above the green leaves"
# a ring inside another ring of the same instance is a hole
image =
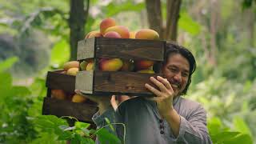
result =
[[[91,118],[97,110],[98,107],[91,104],[44,98],[42,114],[56,115],[57,117],[72,116],[81,122],[92,122]]]

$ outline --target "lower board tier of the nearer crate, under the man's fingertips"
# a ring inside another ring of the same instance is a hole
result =
[[[153,94],[146,90],[145,83],[150,83],[150,77],[156,77],[162,74],[142,74],[123,71],[94,71],[94,82],[87,85],[86,82],[92,78],[88,71],[78,72],[76,78],[76,89],[83,90],[85,94],[126,94],[137,96],[152,96]],[[156,86],[154,86],[157,88]]]

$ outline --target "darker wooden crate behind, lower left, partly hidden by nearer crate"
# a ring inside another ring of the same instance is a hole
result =
[[[98,110],[94,102],[87,100],[83,103],[71,102],[51,98],[51,90],[64,90],[67,94],[74,94],[75,76],[62,74],[64,70],[49,71],[46,77],[47,97],[44,98],[42,114],[58,117],[71,116],[80,122],[92,123],[92,116]]]

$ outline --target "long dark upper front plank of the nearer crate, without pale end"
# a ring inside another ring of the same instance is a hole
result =
[[[96,57],[163,61],[164,41],[130,38],[96,38]]]

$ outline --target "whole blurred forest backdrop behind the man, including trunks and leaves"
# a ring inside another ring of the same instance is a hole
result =
[[[78,40],[107,17],[130,31],[154,29],[190,49],[198,69],[186,97],[208,111],[214,142],[256,142],[254,0],[0,3],[0,142],[54,142],[56,135],[32,122],[41,114],[46,72],[75,59]],[[242,133],[224,138],[225,130]]]

